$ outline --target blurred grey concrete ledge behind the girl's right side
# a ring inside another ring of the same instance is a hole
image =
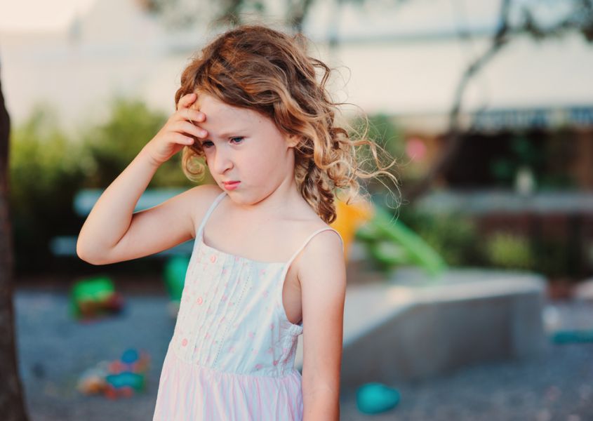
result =
[[[347,289],[342,388],[420,380],[456,368],[538,355],[545,279],[525,272],[452,269],[440,279],[402,269]],[[295,367],[302,370],[302,337]]]

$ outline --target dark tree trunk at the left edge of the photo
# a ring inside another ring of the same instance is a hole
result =
[[[0,83],[0,414],[4,421],[28,420],[18,373],[13,308],[13,248],[8,209],[8,139],[11,120]]]

